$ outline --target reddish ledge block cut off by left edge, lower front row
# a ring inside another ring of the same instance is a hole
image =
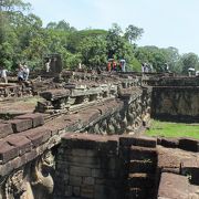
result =
[[[18,155],[19,154],[15,147],[9,145],[6,140],[0,142],[0,163],[4,164]]]

